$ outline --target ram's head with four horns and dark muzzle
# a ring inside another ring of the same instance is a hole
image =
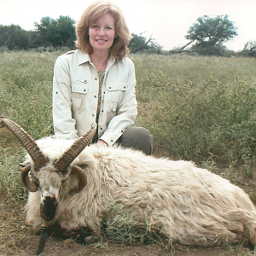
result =
[[[49,221],[55,217],[56,207],[59,203],[61,183],[72,172],[79,176],[77,192],[83,189],[86,184],[83,169],[77,165],[71,167],[70,164],[91,142],[92,137],[96,133],[96,123],[56,160],[49,160],[38,147],[35,140],[14,121],[1,117],[0,128],[3,127],[7,127],[13,133],[32,158],[32,162],[28,162],[23,166],[23,170],[20,172],[20,179],[29,191],[36,192],[38,189],[40,190],[40,212],[43,224],[38,246],[39,254],[44,250]],[[47,177],[49,172],[51,172],[52,178]]]

